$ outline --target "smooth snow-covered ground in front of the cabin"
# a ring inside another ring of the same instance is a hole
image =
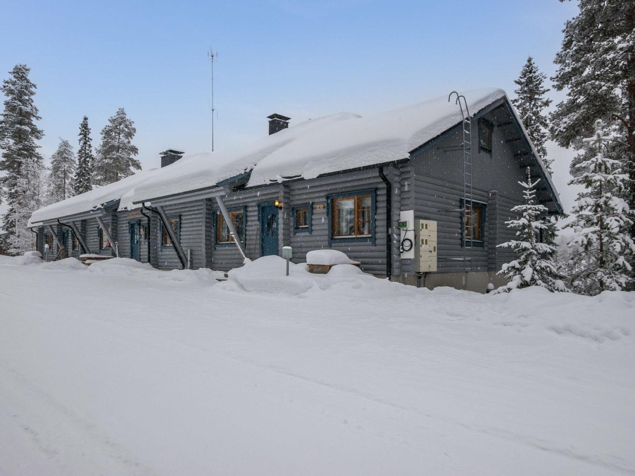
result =
[[[0,475],[635,474],[632,293],[37,261],[0,257]]]

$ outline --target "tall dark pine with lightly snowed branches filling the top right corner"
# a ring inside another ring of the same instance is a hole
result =
[[[562,0],[561,0],[562,1]],[[598,119],[615,129],[612,155],[629,183],[619,195],[635,209],[635,8],[632,1],[579,0],[554,62],[554,89],[566,100],[551,114],[551,136],[563,147],[583,148]],[[583,154],[584,155],[584,154]],[[578,162],[588,157],[578,156]],[[578,169],[579,170],[579,169]],[[574,174],[575,176],[575,174]],[[635,224],[629,231],[635,236]]]

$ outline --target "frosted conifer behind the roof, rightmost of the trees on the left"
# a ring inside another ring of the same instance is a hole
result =
[[[98,185],[117,182],[141,169],[141,163],[135,159],[139,151],[132,145],[132,139],[137,133],[133,124],[126,117],[123,107],[120,107],[102,129],[102,143],[97,149],[95,166],[95,183]]]

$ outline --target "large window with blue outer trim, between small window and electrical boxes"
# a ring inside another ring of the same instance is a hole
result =
[[[375,190],[327,195],[329,244],[375,241]]]

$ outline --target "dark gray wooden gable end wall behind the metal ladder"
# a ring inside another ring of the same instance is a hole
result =
[[[514,157],[518,146],[505,142],[516,135],[512,128],[495,127],[490,155],[479,150],[478,122],[472,121],[474,201],[487,205],[485,243],[482,247],[472,248],[473,271],[498,270],[514,256],[512,251],[496,248],[496,245],[513,236],[505,221],[515,216],[511,208],[523,202],[518,182],[526,179],[526,173]],[[461,142],[461,133],[455,129],[411,158],[414,172],[411,204],[415,216],[438,221],[438,272],[464,270],[464,262],[456,259],[463,256],[462,216],[452,211],[461,207],[463,197]],[[406,272],[413,270],[411,263],[402,262],[402,267]]]

